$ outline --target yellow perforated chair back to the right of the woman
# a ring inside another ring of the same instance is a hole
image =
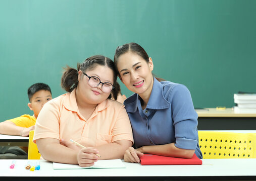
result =
[[[256,158],[256,133],[198,131],[203,158]]]

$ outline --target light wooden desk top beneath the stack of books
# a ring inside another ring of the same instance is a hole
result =
[[[233,108],[226,110],[217,110],[216,108],[207,108],[209,111],[196,111],[198,117],[256,117],[256,114],[234,113]]]

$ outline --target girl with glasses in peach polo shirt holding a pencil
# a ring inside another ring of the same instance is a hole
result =
[[[114,62],[96,55],[78,64],[77,70],[68,66],[61,85],[68,93],[45,104],[35,125],[33,141],[41,156],[80,166],[123,158],[133,137],[124,105],[111,100],[120,89]]]

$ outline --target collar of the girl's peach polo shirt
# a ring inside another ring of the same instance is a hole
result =
[[[105,110],[109,105],[110,105],[111,101],[109,99],[107,99],[106,101],[99,103],[96,106],[96,111],[100,112]],[[71,92],[71,93],[67,93],[65,95],[64,98],[64,102],[63,105],[66,109],[73,111],[73,112],[78,112],[78,107],[77,107],[77,103],[76,103],[76,88]]]

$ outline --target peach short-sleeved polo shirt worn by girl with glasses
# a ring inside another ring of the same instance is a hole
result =
[[[47,102],[40,111],[33,141],[40,138],[74,140],[95,147],[118,140],[133,142],[132,129],[124,105],[107,99],[96,106],[86,120],[76,103],[76,89]]]

